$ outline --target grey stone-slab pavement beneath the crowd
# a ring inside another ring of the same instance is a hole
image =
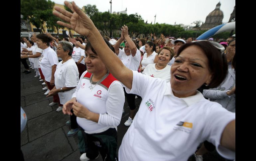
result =
[[[28,62],[28,60],[27,60]],[[28,64],[30,64],[28,62]],[[35,72],[22,73],[25,70],[21,63],[21,107],[27,114],[27,125],[21,133],[21,150],[25,161],[80,161],[77,135],[68,137],[70,126],[65,122],[70,119],[62,112],[56,112],[58,105],[49,106],[53,97],[46,97],[42,88],[43,82],[35,78]],[[136,106],[141,99],[136,99]],[[118,126],[118,148],[128,127],[129,107],[124,105],[125,114]],[[101,156],[95,161],[101,161]]]

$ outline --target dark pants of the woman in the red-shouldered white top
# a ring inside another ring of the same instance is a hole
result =
[[[86,156],[94,159],[99,155],[104,161],[118,160],[117,157],[117,131],[115,128],[109,128],[104,132],[95,134],[86,134],[88,151]]]

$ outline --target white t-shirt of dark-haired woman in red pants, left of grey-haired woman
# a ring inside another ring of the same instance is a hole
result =
[[[51,81],[52,78],[52,66],[59,63],[56,52],[49,46],[43,50],[42,60],[40,66],[42,73],[45,76],[47,82]]]

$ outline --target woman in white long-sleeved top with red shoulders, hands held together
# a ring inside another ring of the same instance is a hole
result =
[[[103,42],[111,47],[108,40]],[[64,104],[63,113],[72,115],[73,109],[78,125],[86,133],[88,150],[80,160],[95,159],[99,152],[103,160],[118,160],[117,126],[122,117],[124,91],[89,41],[85,55],[87,70],[82,73],[72,99]]]

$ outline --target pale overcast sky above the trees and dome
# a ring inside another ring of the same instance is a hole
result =
[[[58,4],[64,4],[64,0],[52,0]],[[71,0],[70,0],[71,1]],[[110,0],[74,0],[78,7],[87,4],[96,5],[99,12],[110,11]],[[192,25],[194,21],[205,22],[206,16],[215,9],[219,0],[112,0],[112,13],[123,11],[127,8],[127,14],[138,13],[144,22],[155,21],[162,24]],[[228,22],[233,12],[235,0],[221,0],[220,10],[224,14],[223,23]]]

